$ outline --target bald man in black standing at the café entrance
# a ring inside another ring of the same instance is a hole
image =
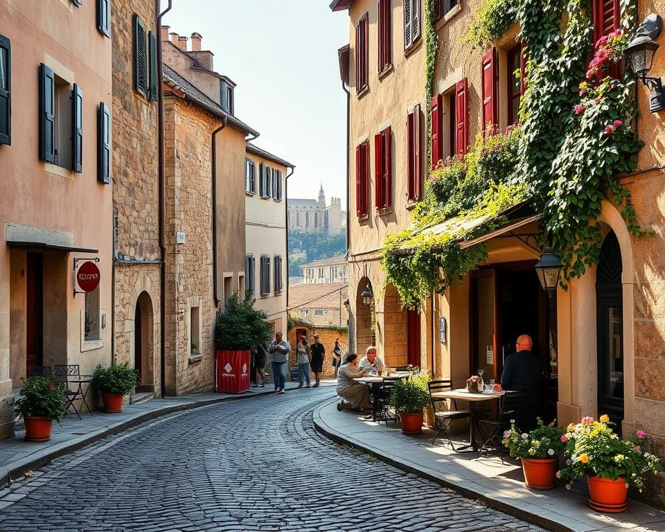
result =
[[[501,387],[504,390],[522,391],[524,401],[517,412],[515,422],[521,430],[535,427],[535,418],[540,411],[541,390],[544,380],[542,363],[531,353],[533,340],[529,335],[517,338],[515,353],[506,358]]]

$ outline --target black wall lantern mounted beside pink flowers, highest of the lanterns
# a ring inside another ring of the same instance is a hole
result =
[[[652,113],[665,109],[665,94],[660,78],[647,76],[653,64],[653,56],[660,45],[653,39],[658,37],[662,28],[659,15],[648,15],[637,28],[637,35],[628,43],[624,54],[630,60],[632,70],[642,83],[651,89],[649,110]]]

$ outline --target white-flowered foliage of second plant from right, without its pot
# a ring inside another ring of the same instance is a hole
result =
[[[511,428],[504,432],[502,443],[508,447],[513,458],[558,458],[565,447],[561,441],[562,434],[563,429],[556,426],[556,420],[545,425],[538,418],[538,427],[531,432],[521,432],[512,421]]]

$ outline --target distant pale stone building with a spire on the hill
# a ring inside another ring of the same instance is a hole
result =
[[[322,233],[338,235],[344,226],[342,199],[333,197],[326,206],[323,184],[319,199],[287,199],[289,209],[289,230],[302,233]]]

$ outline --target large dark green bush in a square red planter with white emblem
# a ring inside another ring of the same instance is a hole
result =
[[[249,355],[256,344],[270,338],[267,315],[254,308],[256,299],[245,290],[245,299],[238,293],[227,302],[224,312],[215,320],[217,357],[217,391],[239,393],[249,390]]]

